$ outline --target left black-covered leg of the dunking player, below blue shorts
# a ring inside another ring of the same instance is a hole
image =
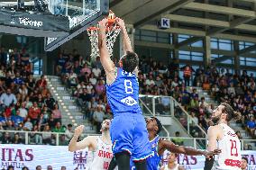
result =
[[[118,169],[130,170],[130,158],[131,155],[127,151],[116,153],[114,155]]]

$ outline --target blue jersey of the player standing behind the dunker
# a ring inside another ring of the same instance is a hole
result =
[[[159,136],[157,136],[155,139],[152,139],[150,141],[151,143],[151,151],[153,152],[153,155],[151,157],[147,158],[147,169],[148,170],[158,170],[158,166],[160,164],[160,160],[162,159],[162,156],[159,156],[158,154],[158,145],[159,145]],[[135,166],[133,164],[133,160],[131,159],[131,170],[135,170]]]

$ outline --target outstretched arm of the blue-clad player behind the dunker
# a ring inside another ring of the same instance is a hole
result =
[[[178,145],[175,145],[173,142],[169,140],[164,140],[164,139],[160,139],[159,146],[160,146],[160,152],[164,152],[164,150],[168,149],[172,153],[185,154],[187,156],[210,157],[213,155],[217,155],[221,152],[219,149],[215,149],[212,152],[209,152],[206,150],[197,150],[196,148],[178,146]]]

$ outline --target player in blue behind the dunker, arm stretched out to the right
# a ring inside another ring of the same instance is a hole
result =
[[[216,154],[219,154],[221,150],[215,149],[213,152],[208,152],[206,150],[197,150],[196,148],[189,148],[189,147],[183,147],[175,145],[173,142],[166,140],[166,139],[160,139],[158,134],[160,133],[160,130],[162,129],[162,125],[160,121],[155,118],[151,117],[147,120],[147,130],[149,132],[149,139],[151,142],[151,150],[153,151],[153,155],[151,157],[147,158],[147,169],[148,170],[158,170],[160,161],[162,159],[162,155],[165,150],[169,150],[172,153],[177,154],[185,154],[188,156],[201,156],[204,155],[205,157],[210,157]],[[133,166],[133,162],[131,162],[131,170],[136,170],[136,167]],[[112,159],[110,166],[108,170],[114,169],[114,159]]]

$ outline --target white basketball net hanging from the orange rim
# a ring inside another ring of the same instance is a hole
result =
[[[99,57],[99,49],[98,49],[98,29],[88,29],[87,33],[89,36],[89,40],[91,41],[91,57],[96,58]],[[105,38],[106,38],[106,48],[110,57],[113,56],[113,47],[114,41],[119,35],[121,28],[114,23],[113,28],[111,30],[106,30]]]

